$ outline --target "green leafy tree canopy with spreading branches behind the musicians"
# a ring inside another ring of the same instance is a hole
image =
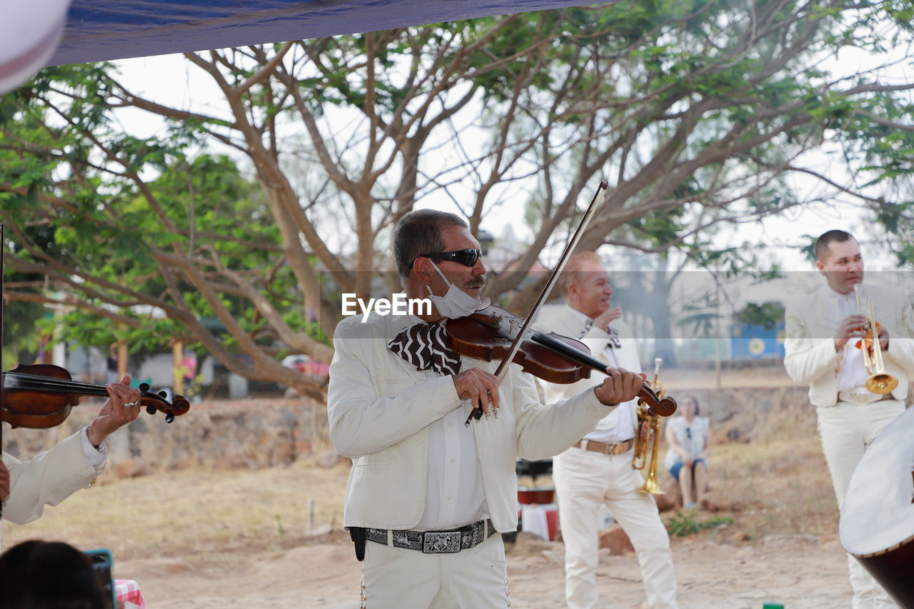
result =
[[[910,15],[903,0],[648,0],[223,49],[188,59],[226,100],[181,108],[106,64],[46,69],[0,98],[0,216],[20,268],[119,336],[161,347],[218,318],[184,339],[223,358],[325,341],[337,293],[371,289],[359,272],[384,270],[392,219],[425,201],[475,230],[519,196],[548,244],[605,178],[594,248],[625,225],[619,242],[733,274],[759,262],[714,225],[802,204],[786,176],[820,171],[798,160],[826,142],[857,178],[848,196],[884,189],[877,220],[904,234],[908,91],[824,58],[905,48]],[[132,106],[165,128],[122,133]],[[80,319],[80,340],[114,333]]]

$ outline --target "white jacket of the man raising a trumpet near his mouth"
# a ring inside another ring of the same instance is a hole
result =
[[[826,319],[831,289],[824,285],[787,305],[784,367],[794,382],[809,385],[809,401],[823,408],[838,400],[844,350],[834,350],[834,327]],[[888,348],[882,357],[886,371],[898,379],[892,397],[908,397],[908,374],[914,373],[914,313],[894,289],[876,288],[873,314],[888,330]],[[853,340],[853,339],[852,339]]]

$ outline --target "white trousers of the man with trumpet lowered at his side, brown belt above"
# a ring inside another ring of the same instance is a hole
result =
[[[632,469],[632,451],[600,454],[569,448],[553,459],[558,521],[565,542],[565,600],[569,609],[597,606],[597,518],[604,503],[632,540],[654,609],[676,604],[670,538],[654,497],[638,492],[644,479]]]

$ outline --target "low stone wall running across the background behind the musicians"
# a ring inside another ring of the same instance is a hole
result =
[[[715,444],[759,442],[777,434],[817,437],[815,409],[804,387],[670,391],[679,400],[696,397],[701,415],[711,420]],[[4,450],[20,458],[37,454],[91,422],[100,407],[101,401],[94,401],[74,408],[66,422],[50,430],[5,426]],[[113,464],[139,464],[146,471],[287,465],[329,445],[326,408],[305,399],[204,402],[171,424],[162,414],[143,412],[110,442]]]

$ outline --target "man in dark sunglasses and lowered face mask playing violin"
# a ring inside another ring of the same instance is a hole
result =
[[[362,565],[363,606],[509,604],[503,533],[517,528],[518,456],[558,454],[588,433],[644,376],[610,369],[596,388],[544,405],[517,366],[446,346],[441,322],[481,308],[485,266],[459,217],[423,209],[401,219],[394,254],[422,315],[344,319],[334,337],[327,413],[352,458],[344,525]],[[464,425],[474,406],[485,415]]]

